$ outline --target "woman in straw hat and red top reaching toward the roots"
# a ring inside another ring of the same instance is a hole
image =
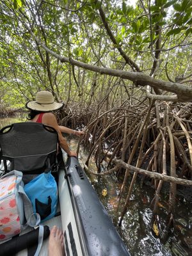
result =
[[[52,111],[62,108],[63,103],[55,102],[52,93],[48,91],[40,91],[36,93],[35,99],[35,101],[30,101],[26,104],[26,108],[30,109],[28,120],[53,127],[58,132],[61,148],[65,150],[68,156],[77,156],[76,152],[70,150],[67,140],[65,140],[61,132],[75,134],[77,136],[83,135],[84,132],[75,131],[65,126],[58,125],[56,116],[51,113]]]

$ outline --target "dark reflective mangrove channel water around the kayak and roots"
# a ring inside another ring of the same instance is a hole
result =
[[[13,122],[22,121],[25,120],[20,118],[0,118],[0,128]],[[77,148],[76,138],[68,136],[68,141],[70,147],[75,150]],[[88,152],[81,148],[79,162],[82,165],[85,163],[87,156]],[[89,168],[93,172],[97,172],[94,159],[91,159]],[[122,181],[118,181],[112,175],[97,177],[88,172],[87,175],[132,256],[192,255],[192,193],[190,188],[181,186],[178,189],[174,228],[171,228],[169,231],[166,230],[169,195],[168,190],[164,189],[159,201],[159,215],[157,219],[159,234],[156,234],[154,228],[152,228],[153,208],[151,205],[155,190],[150,182],[143,184],[141,188],[140,179],[138,179],[134,186],[131,202],[124,216],[124,221],[122,221],[122,227],[118,227],[116,223],[118,223],[122,208],[119,208],[118,212],[116,209]],[[129,184],[127,184],[126,189],[128,188]],[[103,191],[105,193],[102,193]],[[125,198],[123,198],[122,202],[124,200]]]

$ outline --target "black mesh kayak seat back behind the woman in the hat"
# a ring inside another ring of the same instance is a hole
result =
[[[43,168],[48,163],[47,159],[53,164],[56,161],[57,144],[58,133],[43,124],[17,123],[0,131],[3,159],[11,161],[12,169],[22,172]]]

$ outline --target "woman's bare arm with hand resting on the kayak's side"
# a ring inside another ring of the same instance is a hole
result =
[[[56,129],[56,131],[58,132],[60,146],[61,146],[61,148],[63,148],[63,150],[65,150],[65,152],[68,154],[68,156],[77,156],[76,152],[71,151],[70,148],[68,147],[67,140],[65,140],[65,138],[61,134],[60,127],[58,125],[58,122],[57,122],[54,114],[45,113],[42,121],[44,124],[47,124],[47,125],[53,127],[54,129]]]

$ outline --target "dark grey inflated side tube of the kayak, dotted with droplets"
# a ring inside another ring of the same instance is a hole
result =
[[[67,179],[67,184],[63,179]],[[79,244],[81,245],[82,255],[129,255],[108,212],[101,204],[76,157],[68,157],[65,177],[63,178],[60,173],[59,180],[61,216],[65,218],[69,209],[66,200],[63,200],[64,195],[61,194],[65,183],[68,185],[70,200],[73,202],[71,212],[74,213],[77,227],[76,230],[74,228],[74,234],[77,232],[79,235],[80,243],[77,243],[76,247],[79,248]],[[67,230],[67,225],[68,223],[63,230]]]

